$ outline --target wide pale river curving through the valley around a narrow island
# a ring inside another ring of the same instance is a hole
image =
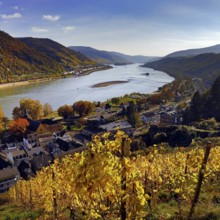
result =
[[[144,75],[145,73],[149,75]],[[40,100],[42,104],[49,103],[53,110],[56,110],[62,105],[72,105],[79,100],[105,101],[133,92],[152,93],[173,80],[173,77],[164,72],[140,67],[139,64],[113,66],[112,69],[80,77],[0,88],[0,106],[5,116],[11,118],[13,108],[19,106],[19,100],[22,98]],[[93,87],[95,84],[108,81],[128,82]]]

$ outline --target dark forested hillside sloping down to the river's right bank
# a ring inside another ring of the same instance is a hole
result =
[[[210,87],[220,76],[220,54],[207,53],[192,57],[164,57],[144,64],[145,67],[164,71],[175,78],[201,78]]]

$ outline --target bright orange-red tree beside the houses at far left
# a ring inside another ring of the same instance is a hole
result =
[[[15,135],[23,135],[27,131],[29,122],[25,118],[18,118],[9,124],[10,131]]]

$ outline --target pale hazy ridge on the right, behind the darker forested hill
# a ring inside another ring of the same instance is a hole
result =
[[[216,53],[216,54],[220,53],[220,44],[217,44],[211,47],[199,48],[199,49],[176,51],[176,52],[166,55],[165,57],[186,57],[186,56],[189,57],[189,56],[195,56],[195,55],[204,54],[204,53]]]

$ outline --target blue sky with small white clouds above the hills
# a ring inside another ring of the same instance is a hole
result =
[[[0,30],[129,55],[220,43],[220,0],[0,0]]]

